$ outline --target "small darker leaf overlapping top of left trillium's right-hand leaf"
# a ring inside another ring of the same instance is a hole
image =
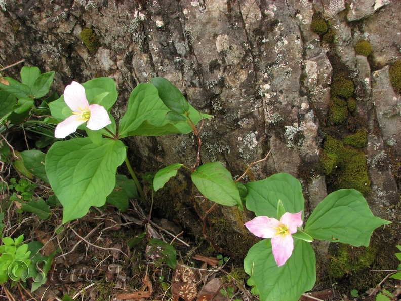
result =
[[[151,83],[158,90],[158,95],[163,103],[172,111],[178,114],[184,114],[189,110],[188,101],[184,95],[165,78],[152,78]]]

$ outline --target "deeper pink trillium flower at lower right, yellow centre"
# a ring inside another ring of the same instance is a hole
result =
[[[245,223],[250,232],[258,237],[271,238],[271,250],[277,266],[283,266],[294,250],[294,239],[291,234],[302,225],[302,211],[286,212],[278,221],[267,216],[258,216]]]

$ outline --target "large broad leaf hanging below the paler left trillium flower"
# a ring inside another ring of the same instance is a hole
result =
[[[103,206],[115,186],[115,173],[126,157],[120,140],[89,138],[58,141],[46,155],[50,184],[64,207],[63,223],[83,217],[91,206]]]

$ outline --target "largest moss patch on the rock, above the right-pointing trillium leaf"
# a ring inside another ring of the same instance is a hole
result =
[[[370,191],[368,167],[362,150],[344,145],[343,141],[327,135],[320,155],[320,164],[327,175],[333,174],[335,189],[353,188],[362,194]]]

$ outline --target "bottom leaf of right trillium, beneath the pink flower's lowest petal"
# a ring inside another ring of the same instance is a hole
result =
[[[293,254],[283,266],[277,267],[270,239],[265,239],[248,251],[244,268],[261,301],[297,301],[316,281],[314,251],[310,243],[298,239],[294,239]]]

